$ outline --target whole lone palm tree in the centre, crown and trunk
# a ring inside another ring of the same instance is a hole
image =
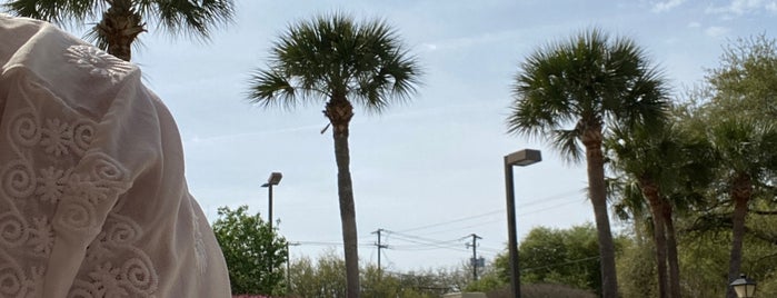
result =
[[[250,82],[249,97],[260,106],[325,103],[335,140],[348,297],[359,296],[348,148],[352,105],[380,112],[392,100],[408,99],[420,74],[418,62],[385,21],[357,23],[335,13],[292,24],[275,43],[268,68],[258,70]]]

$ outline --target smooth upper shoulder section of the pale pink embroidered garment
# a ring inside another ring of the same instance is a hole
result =
[[[37,101],[63,105],[84,116],[99,119],[122,90],[141,85],[140,71],[135,64],[116,58],[53,24],[7,16],[2,19],[7,19],[8,23],[30,22],[27,26],[0,27],[0,31],[3,31],[0,34],[22,27],[31,28],[27,29],[29,32],[26,34],[13,37],[16,42],[0,44],[0,53],[8,57],[7,61],[0,61],[1,79],[23,81],[23,86],[36,86],[37,89],[47,90],[46,92],[51,95],[36,97]],[[4,41],[2,37],[0,40]]]

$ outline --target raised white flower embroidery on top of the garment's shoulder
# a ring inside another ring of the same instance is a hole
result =
[[[91,46],[70,46],[64,56],[70,58],[68,62],[88,69],[92,76],[109,78],[112,83],[132,69],[130,63]]]

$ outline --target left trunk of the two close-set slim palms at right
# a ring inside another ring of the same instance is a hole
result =
[[[647,179],[640,179],[639,185],[642,189],[642,195],[648,200],[648,205],[650,206],[650,213],[653,215],[653,241],[656,246],[656,269],[658,270],[658,297],[671,297],[669,295],[669,279],[667,277],[667,241],[665,234],[666,227],[664,225],[664,203],[660,198],[658,187],[656,187]]]

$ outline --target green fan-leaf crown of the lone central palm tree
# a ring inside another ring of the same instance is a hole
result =
[[[347,99],[380,111],[392,99],[412,95],[420,74],[416,58],[385,21],[323,14],[279,37],[269,69],[252,77],[249,97],[261,106],[285,107]]]

